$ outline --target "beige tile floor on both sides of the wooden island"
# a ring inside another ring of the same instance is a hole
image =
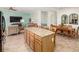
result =
[[[79,51],[79,39],[69,38],[63,35],[56,36],[55,52],[76,52]],[[8,36],[4,44],[4,52],[32,52],[25,43],[24,35]]]

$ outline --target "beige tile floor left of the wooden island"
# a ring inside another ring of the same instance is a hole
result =
[[[32,52],[32,50],[26,44],[23,34],[18,34],[7,37],[4,52]]]

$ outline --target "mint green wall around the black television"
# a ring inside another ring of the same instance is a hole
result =
[[[8,31],[8,26],[10,25],[10,16],[21,16],[22,19],[24,19],[24,26],[27,26],[28,22],[29,22],[29,18],[31,17],[30,13],[22,13],[22,12],[18,12],[18,11],[11,11],[11,10],[7,10],[4,8],[0,8],[0,11],[3,12],[3,16],[5,17],[5,21],[6,21],[6,30]]]

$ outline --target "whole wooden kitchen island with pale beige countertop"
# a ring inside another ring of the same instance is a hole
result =
[[[46,29],[28,27],[25,28],[24,37],[33,51],[51,52],[54,51],[54,34],[54,32]]]

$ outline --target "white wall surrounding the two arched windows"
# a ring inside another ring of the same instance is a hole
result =
[[[79,26],[79,8],[76,7],[69,7],[69,8],[62,8],[60,10],[57,11],[57,24],[61,24],[61,16],[63,14],[68,15],[68,20],[69,20],[69,15],[72,13],[77,13],[78,14],[78,25],[73,25],[72,26]],[[69,22],[68,22],[69,23]]]

